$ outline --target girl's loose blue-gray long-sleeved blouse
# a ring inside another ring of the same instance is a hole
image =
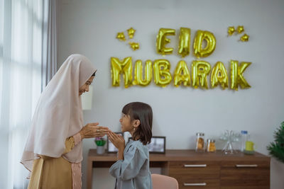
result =
[[[109,173],[116,178],[115,189],[152,189],[148,147],[130,139],[124,149],[124,160],[116,161]]]

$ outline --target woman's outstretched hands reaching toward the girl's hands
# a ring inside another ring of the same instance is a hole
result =
[[[82,130],[80,130],[81,139],[84,138],[94,138],[94,137],[104,137],[105,134],[109,132],[108,127],[98,126],[99,122],[92,122],[85,125]]]

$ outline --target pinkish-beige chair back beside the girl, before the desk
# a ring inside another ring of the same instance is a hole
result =
[[[151,174],[153,189],[178,189],[177,179],[170,176]]]

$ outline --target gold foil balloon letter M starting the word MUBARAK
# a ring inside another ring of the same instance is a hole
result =
[[[119,86],[121,73],[124,74],[124,87],[128,88],[132,82],[131,57],[126,57],[122,62],[116,57],[111,57],[112,86]]]

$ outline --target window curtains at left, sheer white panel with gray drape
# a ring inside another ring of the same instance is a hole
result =
[[[40,92],[56,71],[53,8],[55,0],[0,0],[0,188],[27,187],[19,162]]]

